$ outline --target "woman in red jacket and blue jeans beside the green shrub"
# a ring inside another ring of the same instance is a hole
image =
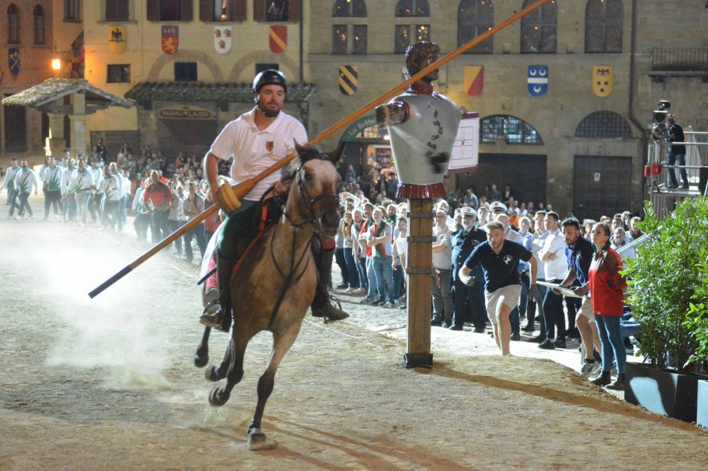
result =
[[[593,301],[595,324],[598,326],[600,344],[603,347],[603,372],[593,383],[607,386],[607,389],[624,390],[624,365],[627,364],[627,351],[624,349],[622,336],[619,335],[619,318],[624,312],[624,292],[627,281],[619,274],[622,259],[610,248],[610,226],[598,223],[591,234],[595,255],[590,264],[590,298]],[[612,353],[617,361],[617,379],[610,383]]]

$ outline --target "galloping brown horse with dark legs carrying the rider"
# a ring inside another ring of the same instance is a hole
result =
[[[317,267],[312,253],[315,231],[324,238],[335,235],[338,223],[337,184],[332,156],[316,149],[298,147],[296,158],[285,170],[292,177],[285,212],[275,226],[253,244],[231,281],[234,325],[226,354],[218,366],[207,368],[208,380],[227,378],[215,388],[209,402],[224,405],[234,385],[244,376],[244,352],[251,338],[262,330],[273,332],[273,349],[268,366],[258,380],[258,405],[249,425],[249,448],[270,448],[261,430],[265,402],[273,391],[275,372],[283,356],[297,338],[307,308],[312,304],[317,284]],[[208,361],[205,339],[195,355],[195,364]]]

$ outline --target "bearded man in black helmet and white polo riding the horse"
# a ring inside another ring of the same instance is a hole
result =
[[[217,278],[219,284],[219,309],[213,314],[207,310],[200,318],[202,324],[228,332],[232,320],[230,283],[234,266],[243,246],[244,236],[252,233],[254,218],[259,213],[261,199],[287,194],[289,182],[281,182],[280,170],[259,182],[243,201],[236,199],[231,185],[219,187],[217,165],[221,160],[234,158],[231,166],[231,183],[238,184],[260,174],[263,170],[295,152],[295,143],[307,142],[307,132],[295,117],[281,112],[287,95],[285,75],[268,69],[253,79],[253,101],[256,106],[245,112],[222,129],[204,158],[203,168],[214,201],[227,218],[219,228],[217,244]],[[266,194],[268,193],[268,194]],[[319,236],[314,236],[319,239]],[[315,240],[313,240],[315,242]],[[319,240],[318,240],[319,241]],[[341,320],[349,317],[329,302],[324,283],[326,267],[321,253],[321,243],[313,243],[318,265],[319,283],[312,303],[312,315],[326,320]],[[331,269],[331,267],[330,267]],[[207,306],[210,308],[211,306]]]

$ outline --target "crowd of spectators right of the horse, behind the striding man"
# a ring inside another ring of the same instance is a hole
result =
[[[392,168],[370,165],[364,173],[363,178],[356,175],[350,165],[341,183],[342,219],[336,237],[336,262],[343,281],[335,288],[361,296],[361,303],[382,308],[405,308],[404,272],[409,223],[406,203],[394,197],[398,180]],[[469,326],[474,327],[474,332],[485,332],[487,313],[481,269],[472,274],[476,279],[476,286],[472,287],[459,283],[456,274],[464,257],[474,246],[486,240],[484,226],[489,221],[500,221],[507,240],[532,250],[539,262],[539,280],[543,281],[548,276],[552,277],[549,280],[562,281],[569,273],[564,252],[561,251],[558,260],[553,262],[555,271],[548,275],[544,274],[544,262],[538,255],[549,233],[555,233],[558,238],[556,244],[560,244],[563,250],[566,248],[561,233],[564,218],[553,211],[551,204],[519,202],[510,185],[505,185],[500,191],[495,184],[490,184],[482,194],[477,194],[474,187],[452,192],[447,199],[435,203],[433,220],[432,236],[435,242],[431,249],[435,272],[431,276],[430,303],[433,326],[451,330],[464,330],[463,327]],[[577,221],[571,211],[566,213],[565,220]],[[643,235],[639,221],[639,216],[624,211],[598,215],[597,221],[583,219],[578,221],[578,227],[581,237],[592,240],[593,226],[598,222],[606,224],[611,230],[609,246],[627,259],[635,256],[634,248],[627,245]],[[474,241],[470,243],[469,240]],[[519,305],[510,315],[511,339],[520,341],[522,331],[531,335],[540,330],[540,335],[527,340],[543,344],[542,348],[566,348],[566,338],[580,341],[576,315],[581,308],[581,298],[559,296],[559,314],[554,314],[552,326],[547,326],[545,320],[548,316],[543,313],[543,298],[547,290],[542,289],[538,296],[540,299],[529,298],[528,264],[522,262],[518,269],[522,295]],[[522,327],[521,321],[524,319],[527,322]],[[540,328],[537,327],[537,320]],[[632,349],[627,339],[624,342],[627,349]],[[596,345],[599,350],[599,344]],[[600,359],[598,351],[593,351],[593,354]]]

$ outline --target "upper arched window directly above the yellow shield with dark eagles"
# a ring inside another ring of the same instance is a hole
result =
[[[588,0],[585,52],[622,52],[622,0]]]

